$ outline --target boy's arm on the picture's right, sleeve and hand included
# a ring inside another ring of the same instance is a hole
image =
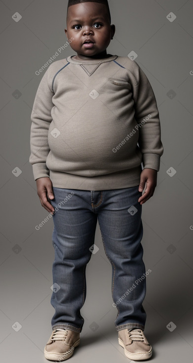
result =
[[[141,173],[139,191],[145,193],[139,198],[144,204],[154,194],[157,182],[157,172],[160,167],[160,157],[163,145],[160,139],[159,112],[151,84],[142,69],[136,68],[136,85],[133,87],[135,101],[135,119],[139,124],[139,148],[143,154],[144,169]]]

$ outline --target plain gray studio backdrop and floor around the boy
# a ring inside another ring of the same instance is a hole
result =
[[[116,35],[108,52],[135,59],[149,78],[160,113],[161,158],[154,194],[143,206],[147,276],[145,333],[155,362],[193,355],[193,27],[192,0],[110,0]],[[0,0],[0,356],[6,362],[47,362],[51,330],[53,221],[39,202],[29,164],[30,115],[36,75],[66,44],[67,0]],[[87,265],[81,343],[72,362],[126,362],[118,345],[111,265],[97,225],[99,250]],[[10,349],[11,348],[11,349]]]

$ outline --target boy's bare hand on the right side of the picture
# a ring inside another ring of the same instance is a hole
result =
[[[154,169],[145,168],[141,172],[139,191],[143,191],[145,188],[145,193],[138,199],[140,204],[144,204],[154,195],[155,186],[157,185],[157,171]]]

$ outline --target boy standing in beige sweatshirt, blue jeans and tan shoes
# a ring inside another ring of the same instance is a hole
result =
[[[49,66],[31,116],[30,163],[54,221],[55,314],[44,356],[64,361],[79,344],[98,220],[112,264],[118,343],[127,358],[149,359],[141,212],[163,153],[154,92],[135,61],[107,54],[115,34],[107,0],[69,0],[65,33],[77,54]]]

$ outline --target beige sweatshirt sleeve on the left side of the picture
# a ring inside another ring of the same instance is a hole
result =
[[[46,158],[49,154],[48,129],[52,121],[51,109],[53,92],[48,85],[48,70],[43,75],[38,91],[35,96],[33,110],[31,114],[31,134],[29,158],[32,164],[34,179],[49,177],[49,169],[46,166]]]

